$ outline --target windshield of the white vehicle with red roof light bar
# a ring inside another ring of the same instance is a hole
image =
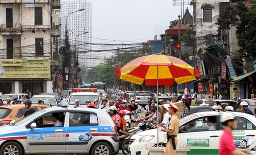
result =
[[[71,95],[69,98],[69,104],[75,104],[75,100],[79,100],[80,105],[84,105],[87,100],[90,100],[92,103],[95,99],[99,101],[98,95]]]

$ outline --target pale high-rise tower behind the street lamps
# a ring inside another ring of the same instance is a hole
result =
[[[84,10],[75,12],[79,9]],[[62,40],[65,39],[65,27],[67,25],[71,50],[78,55],[78,62],[81,66],[91,67],[93,57],[90,45],[92,42],[92,3],[80,0],[61,1],[59,16],[61,18]]]

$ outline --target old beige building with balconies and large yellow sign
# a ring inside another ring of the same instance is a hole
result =
[[[0,92],[52,92],[52,12],[59,1],[0,0]]]

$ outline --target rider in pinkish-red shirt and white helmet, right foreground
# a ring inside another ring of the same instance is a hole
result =
[[[232,130],[237,128],[237,120],[236,115],[232,112],[225,112],[221,116],[221,124],[224,125],[223,134],[220,138],[220,155],[227,155],[227,154],[252,154],[251,150],[247,149],[238,149],[236,145],[234,145],[234,138],[232,136]]]

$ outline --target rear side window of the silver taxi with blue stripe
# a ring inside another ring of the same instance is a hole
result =
[[[97,126],[97,115],[89,113],[71,113],[69,126]]]

